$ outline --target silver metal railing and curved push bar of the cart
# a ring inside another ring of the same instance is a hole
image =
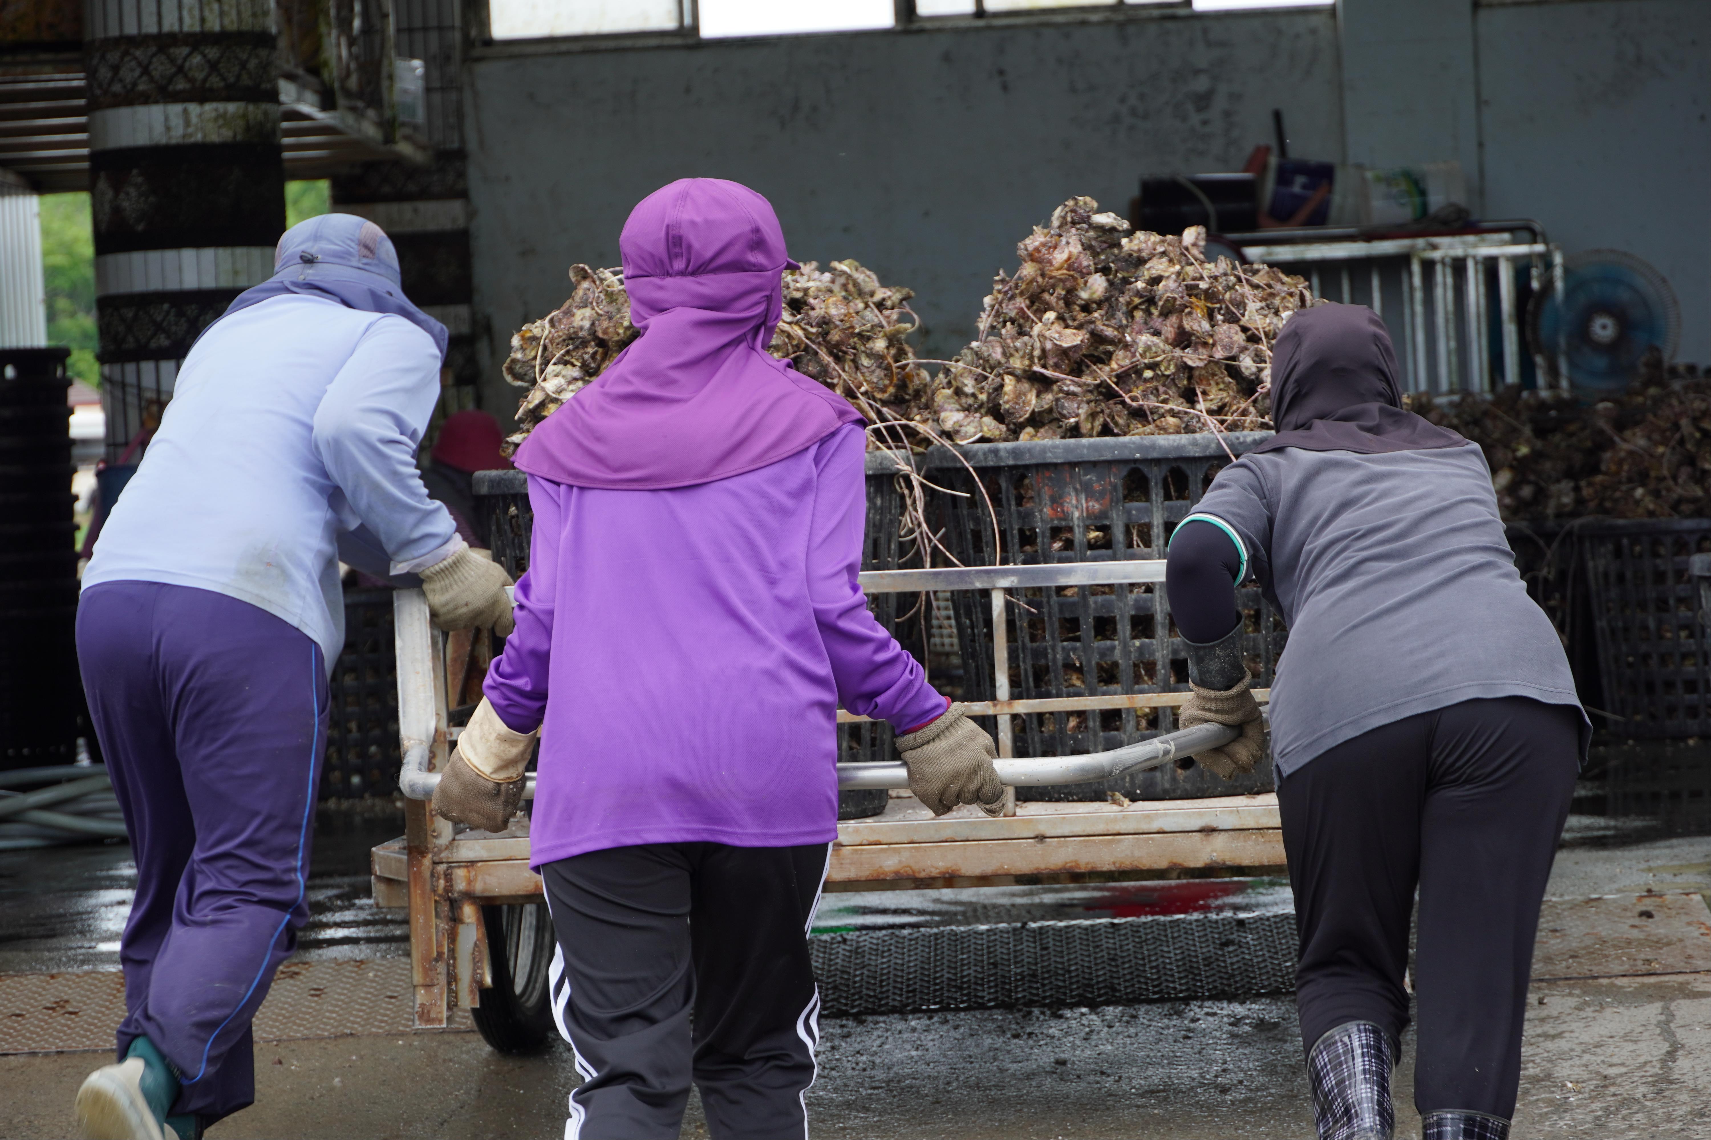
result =
[[[1016,713],[1068,713],[1081,709],[1143,708],[1160,704],[1163,694],[1129,694],[1098,697],[1009,699],[1009,639],[1004,629],[1006,591],[1021,588],[1110,586],[1162,583],[1163,559],[1129,559],[1117,562],[1066,562],[1056,566],[972,566],[951,569],[867,571],[859,576],[866,593],[938,593],[953,590],[987,590],[992,595],[992,665],[996,689],[992,701],[967,704],[970,716],[998,718],[998,778],[1011,788],[1075,784],[1109,779],[1124,773],[1162,767],[1175,759],[1230,743],[1239,730],[1225,725],[1199,725],[1163,733],[1109,752],[1085,755],[1047,755],[1015,759],[1009,718]],[[433,798],[440,773],[429,771],[438,752],[445,755],[455,737],[447,728],[443,638],[428,620],[428,596],[421,590],[399,590],[392,598],[394,634],[399,656],[399,735],[404,766],[399,788],[412,800]],[[844,723],[866,720],[838,711]],[[838,788],[907,788],[909,769],[902,762],[838,764]],[[524,790],[532,798],[534,774]]]

